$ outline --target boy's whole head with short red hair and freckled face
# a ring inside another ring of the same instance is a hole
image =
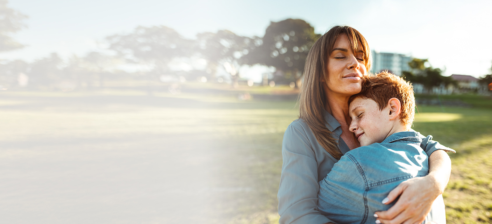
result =
[[[349,99],[350,131],[361,146],[408,131],[415,114],[412,85],[388,72],[365,77],[362,91]]]

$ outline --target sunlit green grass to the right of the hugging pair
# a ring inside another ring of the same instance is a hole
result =
[[[418,106],[415,115],[415,130],[457,151],[450,153],[453,170],[443,194],[447,223],[492,223],[492,99],[475,95],[440,97],[473,106]]]

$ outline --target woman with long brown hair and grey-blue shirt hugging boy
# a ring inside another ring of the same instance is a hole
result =
[[[331,28],[309,51],[299,101],[300,116],[289,125],[282,142],[278,189],[281,224],[331,223],[316,210],[318,181],[344,153],[359,146],[348,129],[348,99],[361,91],[361,78],[369,68],[369,46],[354,28]],[[432,202],[444,191],[451,173],[451,161],[444,151],[449,148],[431,138],[425,138],[421,144],[429,155],[429,175],[395,188],[383,202],[400,198],[388,211],[374,214],[377,222],[422,223]]]

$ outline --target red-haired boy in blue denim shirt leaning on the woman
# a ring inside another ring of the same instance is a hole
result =
[[[349,99],[349,129],[361,147],[345,153],[319,182],[321,214],[337,224],[380,223],[374,212],[395,203],[382,203],[388,193],[405,180],[429,173],[422,139],[410,129],[414,108],[412,86],[402,78],[382,72],[365,79],[362,91]],[[424,223],[430,221],[446,223],[442,196]]]

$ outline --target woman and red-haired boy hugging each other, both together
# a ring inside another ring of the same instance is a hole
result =
[[[370,51],[336,26],[310,49],[299,119],[285,131],[280,224],[445,224],[447,148],[412,130],[410,84],[368,76]]]

